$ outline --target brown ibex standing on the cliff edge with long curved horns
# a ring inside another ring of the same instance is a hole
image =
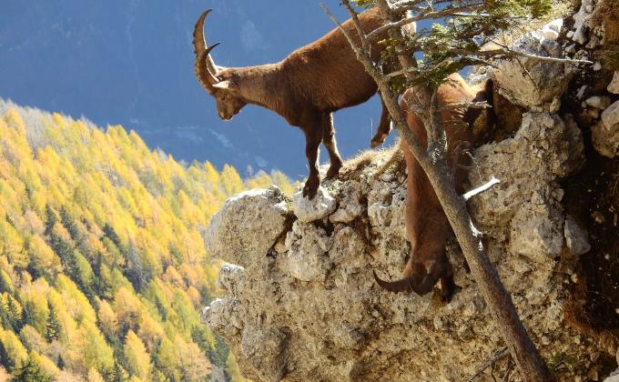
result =
[[[210,55],[218,44],[208,46],[204,35],[204,22],[210,11],[200,15],[194,29],[198,81],[217,101],[221,119],[229,120],[243,106],[251,104],[266,107],[283,116],[290,125],[301,128],[309,162],[309,177],[303,187],[303,196],[312,199],[320,186],[317,163],[320,143],[324,144],[330,156],[327,177],[338,176],[342,166],[331,113],[367,101],[376,94],[376,83],[357,61],[348,41],[338,29],[300,47],[277,64],[218,66]],[[366,31],[383,24],[378,9],[367,10],[359,18]],[[343,26],[350,34],[358,36],[350,20]],[[375,62],[380,59],[378,43],[373,45],[371,53]],[[383,105],[381,122],[371,146],[381,145],[390,128],[389,113]]]

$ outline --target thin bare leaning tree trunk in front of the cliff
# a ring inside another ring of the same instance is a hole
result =
[[[343,0],[343,3],[347,5],[348,0]],[[397,21],[391,15],[391,9],[387,0],[378,0],[378,5],[381,8],[381,15],[386,22]],[[482,234],[472,223],[471,216],[466,208],[466,201],[456,193],[453,187],[451,169],[447,166],[446,160],[445,130],[441,113],[436,112],[433,107],[433,92],[431,88],[424,85],[417,85],[414,88],[420,106],[430,110],[430,116],[420,116],[428,129],[428,152],[433,154],[428,155],[402,115],[397,101],[398,95],[391,91],[389,78],[373,65],[369,53],[360,48],[350,38],[346,30],[335,20],[333,15],[329,13],[327,8],[324,5],[322,6],[331,20],[340,27],[340,31],[347,36],[357,58],[379,85],[383,102],[391,114],[391,119],[396,129],[430,179],[431,185],[434,187],[434,191],[445,211],[445,215],[462,247],[462,253],[471,267],[472,276],[480,287],[482,296],[488,304],[490,313],[505,341],[505,345],[509,348],[516,365],[519,367],[522,377],[527,381],[553,380],[543,362],[543,358],[540,356],[518,317],[512,297],[502,285],[496,269],[492,266],[485,252],[482,244]],[[351,10],[350,5],[347,7]],[[360,24],[355,24],[360,29]],[[363,41],[365,38],[364,32],[362,30],[358,30],[358,32],[361,41]],[[401,39],[401,30],[399,28],[391,29],[390,36],[391,38]],[[416,63],[409,56],[401,55],[399,60],[406,75],[414,78],[416,74],[406,69],[411,67],[411,65],[416,65]]]

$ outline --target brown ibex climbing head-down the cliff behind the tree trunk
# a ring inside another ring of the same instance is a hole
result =
[[[406,116],[409,127],[427,147],[428,138],[425,126],[419,116],[410,109],[408,102],[412,99],[412,90],[402,95],[401,110]],[[436,96],[438,106],[454,103],[492,100],[492,81],[480,87],[470,87],[460,75],[454,74],[449,82],[441,85]],[[469,156],[461,148],[472,144],[472,123],[481,113],[480,109],[451,109],[443,111],[448,144],[448,163],[454,171],[454,186],[462,193],[462,184],[466,177],[466,166]],[[487,123],[492,118],[486,117]],[[421,168],[419,162],[411,154],[411,150],[401,140],[401,150],[406,159],[408,172],[408,188],[406,200],[406,233],[411,242],[411,253],[397,281],[381,280],[374,272],[374,277],[380,286],[392,292],[411,290],[418,295],[430,292],[437,281],[441,280],[441,295],[443,301],[449,301],[456,289],[453,282],[453,268],[445,254],[445,243],[452,236],[452,227],[442,210],[438,197],[430,184],[430,180]]]

